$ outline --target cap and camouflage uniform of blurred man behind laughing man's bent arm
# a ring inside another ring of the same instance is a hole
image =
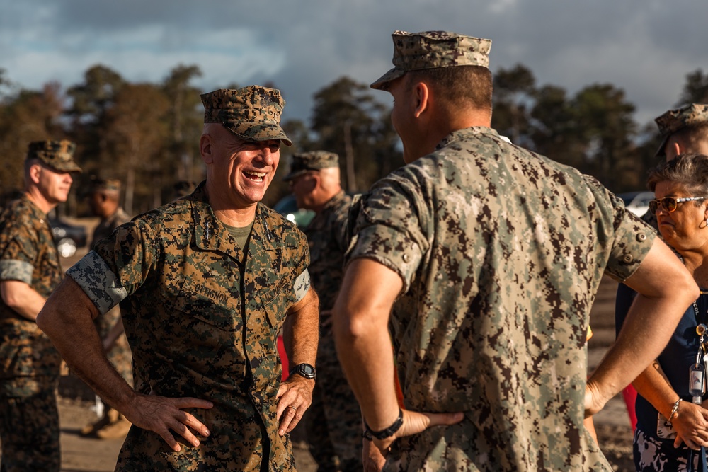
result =
[[[120,180],[103,180],[98,185],[94,186],[93,190],[113,190],[120,191]],[[102,218],[98,221],[96,229],[93,230],[93,236],[91,238],[91,247],[95,246],[98,241],[103,238],[108,238],[113,231],[118,228],[123,223],[130,221],[130,217],[125,213],[121,207],[115,209],[115,212],[109,217]],[[94,323],[96,324],[96,329],[98,330],[98,335],[101,339],[105,338],[110,331],[110,328],[115,326],[120,320],[120,307],[114,306],[107,313],[101,316],[96,316]],[[108,362],[115,367],[118,374],[122,376],[128,384],[132,385],[132,356],[130,355],[130,346],[128,345],[128,340],[125,337],[125,333],[122,333],[115,340],[115,344],[110,348],[106,354],[108,357]]]

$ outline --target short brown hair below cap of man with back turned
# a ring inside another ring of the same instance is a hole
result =
[[[406,72],[409,84],[425,81],[447,103],[468,105],[491,113],[491,71],[482,66],[436,67]]]

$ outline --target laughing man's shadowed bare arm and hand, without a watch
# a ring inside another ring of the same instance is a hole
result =
[[[211,408],[212,403],[197,398],[165,398],[133,391],[105,358],[101,338],[93,325],[96,316],[96,306],[81,287],[67,277],[47,299],[37,317],[37,324],[50,337],[69,367],[130,422],[156,432],[174,451],[181,448],[170,428],[190,444],[198,446],[199,440],[188,427],[205,437],[209,431],[181,408]]]

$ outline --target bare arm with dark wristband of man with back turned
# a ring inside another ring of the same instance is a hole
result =
[[[375,260],[353,260],[344,275],[333,309],[334,339],[339,362],[373,431],[384,430],[398,418],[394,359],[389,337],[389,313],[403,288],[401,277]],[[398,437],[435,425],[451,425],[463,413],[403,412],[403,425],[391,437],[374,444],[381,451]]]

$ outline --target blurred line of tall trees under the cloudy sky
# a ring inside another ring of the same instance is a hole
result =
[[[171,200],[174,183],[198,182],[205,175],[198,148],[199,94],[205,91],[192,84],[199,76],[198,66],[180,64],[159,83],[134,83],[97,64],[86,70],[80,84],[64,88],[50,81],[41,90],[28,90],[0,69],[1,192],[8,195],[22,187],[28,142],[71,139],[84,173],[60,212],[88,212],[83,196],[91,176],[121,180],[129,214]],[[591,84],[569,96],[559,86],[538,86],[523,64],[498,69],[493,80],[492,127],[500,134],[595,176],[615,192],[644,188],[646,173],[657,163],[660,139],[653,122],[634,121],[635,106],[622,89]],[[343,76],[314,94],[309,122],[282,122],[294,146],[283,146],[265,203],[274,205],[287,194],[281,177],[293,152],[338,153],[343,186],[350,191],[365,190],[399,167],[403,159],[390,109],[377,94]],[[687,74],[681,96],[667,109],[684,103],[708,103],[708,74],[701,69]]]

